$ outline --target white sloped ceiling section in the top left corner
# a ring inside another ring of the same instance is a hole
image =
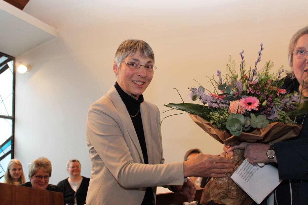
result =
[[[0,52],[17,57],[57,36],[55,28],[11,5],[26,6],[27,2],[0,0]]]

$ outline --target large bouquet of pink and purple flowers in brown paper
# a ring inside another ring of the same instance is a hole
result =
[[[209,135],[225,145],[240,142],[265,142],[274,144],[297,136],[301,125],[295,119],[306,114],[306,102],[301,96],[280,89],[284,83],[281,77],[284,70],[270,74],[273,62],[266,62],[263,69],[257,69],[261,61],[258,51],[254,67],[246,69],[244,50],[240,52],[240,73],[236,73],[235,62],[229,58],[226,74],[217,70],[218,81],[209,78],[214,87],[210,92],[201,86],[190,87],[190,98],[195,103],[169,103],[164,105],[171,110],[185,111]],[[233,163],[236,168],[244,160],[244,153],[235,150]],[[236,169],[235,169],[236,170]],[[235,171],[234,170],[234,171]],[[230,173],[226,178],[212,179],[205,187],[201,203],[213,200],[221,204],[251,204],[251,199],[232,180]]]

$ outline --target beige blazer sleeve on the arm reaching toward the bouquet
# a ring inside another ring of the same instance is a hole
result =
[[[109,101],[109,99],[102,99],[102,101]],[[129,133],[125,123],[121,122],[121,116],[112,106],[111,100],[107,104],[102,101],[92,104],[88,111],[87,143],[90,147],[89,152],[93,152],[92,154],[97,152],[116,181],[126,188],[182,185],[183,162],[168,164],[140,162],[136,147],[129,138],[132,133]],[[160,156],[160,160],[163,161],[162,154]]]

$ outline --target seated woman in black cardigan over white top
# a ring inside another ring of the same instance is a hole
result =
[[[57,184],[63,189],[64,202],[68,205],[85,204],[90,179],[80,175],[81,164],[77,159],[69,160],[66,170],[70,177]]]

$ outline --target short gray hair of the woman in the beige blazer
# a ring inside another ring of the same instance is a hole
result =
[[[154,52],[151,46],[143,41],[138,39],[128,39],[123,41],[115,52],[115,62],[120,68],[121,62],[128,56],[133,56],[137,52],[140,52],[142,58],[149,58],[155,62]]]

